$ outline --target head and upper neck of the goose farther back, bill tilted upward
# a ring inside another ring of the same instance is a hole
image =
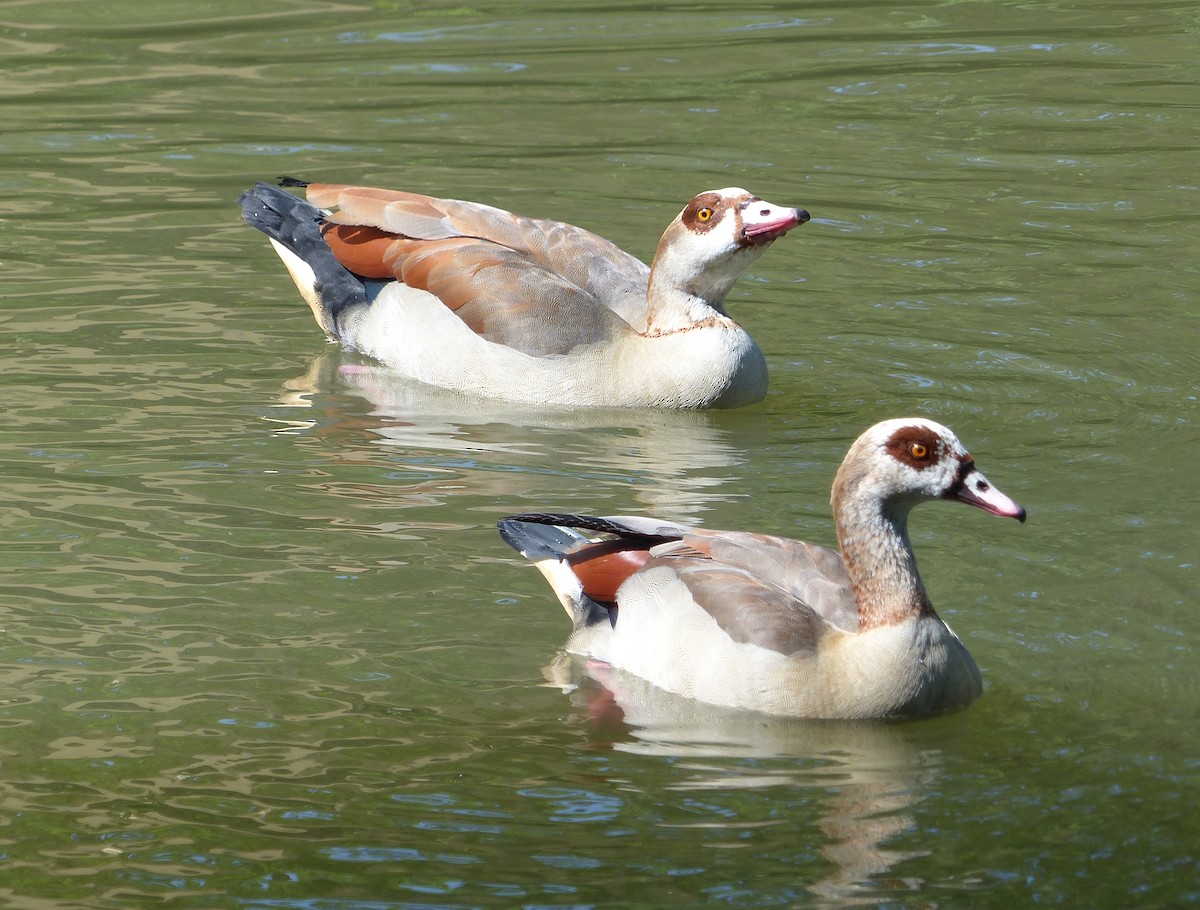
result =
[[[721,301],[745,268],[808,220],[804,209],[775,205],[738,186],[703,192],[662,233],[652,285],[724,312]]]

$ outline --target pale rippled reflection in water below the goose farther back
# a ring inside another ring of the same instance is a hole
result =
[[[619,485],[624,502],[688,517],[740,498],[738,468],[749,457],[736,431],[709,412],[505,405],[437,389],[334,348],[287,383],[278,408],[319,412],[271,419],[277,432],[343,443],[337,459],[364,459],[367,438],[386,447],[392,463],[419,475],[415,485],[380,486],[389,502],[527,497],[536,473],[539,490],[563,484],[577,495],[581,483]]]

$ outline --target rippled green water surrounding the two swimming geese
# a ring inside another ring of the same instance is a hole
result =
[[[1189,4],[0,6],[0,905],[1200,904]],[[730,298],[772,390],[538,414],[340,354],[238,193],[479,199],[642,256],[814,221]],[[814,725],[547,679],[494,521],[833,539],[950,425],[1022,527],[913,517],[968,711]]]

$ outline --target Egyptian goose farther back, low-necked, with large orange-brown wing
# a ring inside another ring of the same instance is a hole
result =
[[[242,216],[331,340],[432,385],[568,407],[760,401],[766,360],[722,301],[809,220],[745,190],[701,193],[647,268],[582,228],[480,203],[283,185],[306,186],[308,202],[258,184]]]

